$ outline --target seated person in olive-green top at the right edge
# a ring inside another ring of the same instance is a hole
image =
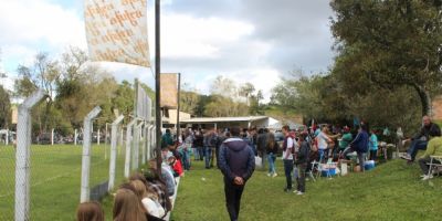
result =
[[[442,156],[442,137],[432,138],[428,144],[425,152],[418,160],[419,166],[423,172],[422,180],[428,180],[433,178],[433,175],[429,175],[430,166],[428,165],[431,162],[430,156],[432,155]],[[433,162],[435,162],[434,159]]]

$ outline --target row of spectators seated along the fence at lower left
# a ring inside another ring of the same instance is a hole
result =
[[[170,155],[167,152],[166,155]],[[149,161],[150,169],[133,173],[114,194],[114,221],[162,221],[172,209],[176,193],[176,178],[180,176],[172,158],[165,160],[161,172],[156,161]],[[83,202],[77,208],[77,221],[104,221],[104,211],[98,202]]]

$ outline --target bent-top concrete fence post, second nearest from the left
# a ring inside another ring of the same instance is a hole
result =
[[[84,118],[84,133],[83,133],[83,157],[82,157],[82,189],[80,202],[90,200],[90,170],[91,170],[91,135],[93,131],[92,120],[102,112],[99,106],[92,109]]]

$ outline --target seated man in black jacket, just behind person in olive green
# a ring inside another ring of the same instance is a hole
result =
[[[423,125],[419,134],[411,138],[412,143],[407,151],[407,155],[401,157],[402,159],[408,160],[409,164],[414,161],[419,149],[427,149],[427,144],[432,137],[441,136],[441,128],[436,124],[432,123],[429,116],[422,117],[422,124]]]

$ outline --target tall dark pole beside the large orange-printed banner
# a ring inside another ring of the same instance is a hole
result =
[[[160,0],[155,0],[155,124],[156,124],[156,152],[157,170],[161,173],[161,110],[160,110],[160,73],[161,73],[161,50],[160,50]]]

